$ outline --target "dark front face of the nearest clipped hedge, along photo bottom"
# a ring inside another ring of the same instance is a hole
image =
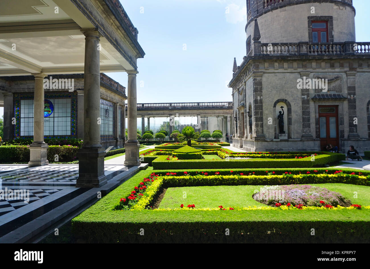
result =
[[[369,222],[352,221],[354,216],[364,212],[351,213],[348,221],[258,221],[248,217],[249,212],[237,212],[239,219],[229,221],[228,215],[235,212],[222,212],[217,221],[173,221],[178,212],[160,212],[167,221],[142,220],[146,212],[137,212],[129,218],[131,222],[96,221],[94,219],[75,218],[72,221],[73,232],[86,243],[368,243],[370,238]],[[130,212],[131,213],[131,212]],[[156,212],[157,214],[159,212]],[[173,214],[175,213],[175,214]],[[190,212],[203,219],[209,219],[209,212]],[[219,212],[217,212],[219,213]],[[258,219],[264,212],[254,212]],[[302,212],[295,212],[297,214]],[[306,213],[306,212],[305,212]],[[319,212],[315,212],[319,213]],[[353,214],[354,213],[354,214]],[[333,212],[320,212],[317,218],[325,219]],[[250,214],[249,214],[250,215]],[[285,212],[283,215],[286,215]],[[350,215],[350,214],[349,214]],[[312,228],[315,235],[311,235]],[[229,235],[225,235],[228,229]],[[103,232],[104,231],[104,232]],[[144,231],[144,235],[139,235]]]

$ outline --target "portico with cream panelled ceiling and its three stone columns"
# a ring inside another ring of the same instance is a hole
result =
[[[125,164],[140,164],[136,139],[136,74],[137,59],[145,53],[137,41],[138,31],[119,1],[36,2],[9,1],[7,8],[0,10],[0,76],[35,77],[34,139],[28,166],[48,164],[48,145],[44,143],[44,78],[52,74],[84,73],[84,91],[78,93],[84,101],[84,144],[78,153],[76,187],[99,187],[107,182],[105,149],[100,144],[101,72],[128,74],[129,137]],[[5,92],[4,99],[13,99],[6,88],[1,91]],[[11,116],[11,113],[4,115],[5,128],[11,128]]]

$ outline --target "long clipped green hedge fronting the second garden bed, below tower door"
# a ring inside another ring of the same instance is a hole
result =
[[[166,160],[159,156],[152,161],[155,170],[162,169],[211,169],[211,168],[284,168],[284,167],[322,167],[324,164],[343,160],[344,154],[328,152],[303,159],[248,159],[248,160]]]

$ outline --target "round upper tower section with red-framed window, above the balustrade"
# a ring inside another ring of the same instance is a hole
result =
[[[258,20],[260,42],[355,41],[352,0],[246,0],[247,44]],[[250,41],[249,41],[250,42]]]

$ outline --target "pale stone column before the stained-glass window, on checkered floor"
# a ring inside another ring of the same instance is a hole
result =
[[[49,164],[47,160],[48,145],[44,142],[44,78],[46,74],[33,75],[35,77],[33,143],[30,144],[28,167]]]

